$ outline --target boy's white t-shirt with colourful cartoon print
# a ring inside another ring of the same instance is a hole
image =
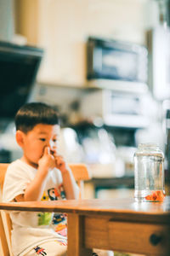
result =
[[[3,185],[3,201],[14,201],[25,193],[28,183],[34,179],[37,169],[21,160],[8,166]],[[65,199],[62,176],[58,169],[48,173],[42,201]],[[14,256],[24,255],[43,241],[58,240],[66,244],[66,217],[52,212],[9,212],[13,224],[12,247]]]

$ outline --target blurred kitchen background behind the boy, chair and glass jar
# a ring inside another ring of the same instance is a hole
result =
[[[21,155],[16,111],[41,101],[60,153],[92,171],[86,198],[133,196],[139,143],[163,150],[168,183],[169,26],[170,0],[0,0],[0,162]]]

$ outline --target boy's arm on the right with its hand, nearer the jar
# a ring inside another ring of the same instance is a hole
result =
[[[65,189],[66,199],[78,199],[79,198],[79,188],[71,172],[71,168],[65,163],[62,156],[54,155],[56,167],[62,174],[63,186]]]

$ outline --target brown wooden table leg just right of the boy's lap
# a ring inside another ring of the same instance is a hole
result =
[[[83,216],[68,214],[68,251],[67,256],[92,256],[92,250],[84,247]]]

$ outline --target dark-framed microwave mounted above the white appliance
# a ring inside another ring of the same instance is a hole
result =
[[[146,83],[148,50],[131,44],[103,38],[88,38],[87,79],[116,79]]]

